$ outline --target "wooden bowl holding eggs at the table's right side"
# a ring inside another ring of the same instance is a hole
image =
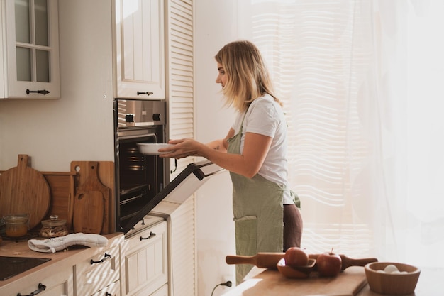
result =
[[[395,265],[399,271],[407,273],[385,273],[387,265]],[[394,262],[374,262],[365,265],[365,276],[370,290],[386,295],[406,295],[415,291],[421,270],[413,265]]]

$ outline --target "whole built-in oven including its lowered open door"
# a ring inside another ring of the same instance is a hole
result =
[[[140,153],[137,145],[167,141],[165,102],[116,99],[114,113],[116,230],[130,237],[147,227],[151,216],[170,216],[223,169],[201,160],[189,163],[170,181],[170,161]]]

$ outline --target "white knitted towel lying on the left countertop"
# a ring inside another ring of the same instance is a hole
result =
[[[89,247],[103,247],[108,244],[108,239],[100,234],[67,234],[51,239],[30,239],[28,246],[33,251],[43,253],[55,253],[69,246],[82,245]]]

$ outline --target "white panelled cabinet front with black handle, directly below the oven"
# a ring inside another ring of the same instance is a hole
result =
[[[167,221],[163,220],[122,243],[123,296],[152,295],[167,284],[167,242]]]

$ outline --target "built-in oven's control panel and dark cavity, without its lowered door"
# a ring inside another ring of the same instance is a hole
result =
[[[169,163],[143,155],[137,143],[165,143],[165,101],[115,99],[116,230],[128,223],[167,184]]]

